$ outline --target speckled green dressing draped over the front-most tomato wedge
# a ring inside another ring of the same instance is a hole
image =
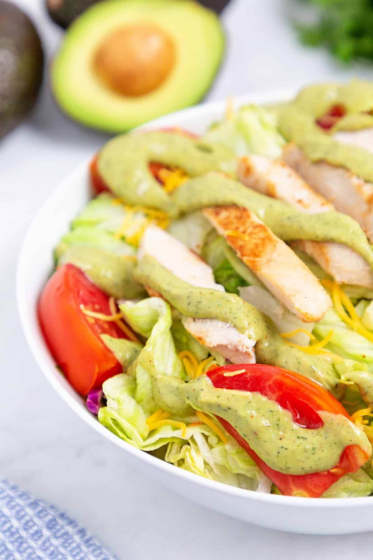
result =
[[[329,470],[348,445],[371,452],[365,433],[342,414],[321,410],[324,426],[312,430],[296,424],[289,410],[274,400],[257,392],[216,389],[206,374],[190,381],[185,391],[193,408],[224,418],[267,465],[281,473]]]

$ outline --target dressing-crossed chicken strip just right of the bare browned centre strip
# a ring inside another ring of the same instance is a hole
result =
[[[319,213],[334,210],[333,204],[315,193],[305,181],[283,161],[262,156],[243,157],[239,161],[238,178],[259,193],[289,202],[301,212]],[[373,288],[373,271],[365,259],[350,247],[321,241],[295,241],[292,245],[308,253],[340,284],[356,284]]]

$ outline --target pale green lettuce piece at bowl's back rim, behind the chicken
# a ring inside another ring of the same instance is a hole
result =
[[[238,156],[258,153],[271,158],[280,157],[285,144],[284,138],[277,132],[275,113],[257,105],[244,105],[233,118],[214,123],[204,139],[224,144]]]

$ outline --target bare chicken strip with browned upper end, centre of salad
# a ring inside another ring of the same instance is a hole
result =
[[[247,208],[206,208],[205,216],[265,286],[304,323],[320,321],[332,301],[298,256]]]

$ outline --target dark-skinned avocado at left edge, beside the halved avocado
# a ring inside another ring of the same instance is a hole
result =
[[[36,101],[44,55],[30,19],[0,0],[0,138],[15,128]]]

